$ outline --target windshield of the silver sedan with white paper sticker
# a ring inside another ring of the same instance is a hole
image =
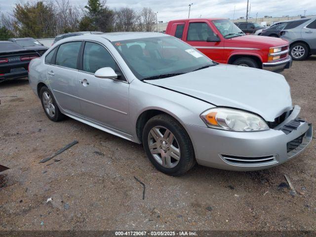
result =
[[[197,49],[173,37],[112,42],[134,75],[159,79],[216,65]]]

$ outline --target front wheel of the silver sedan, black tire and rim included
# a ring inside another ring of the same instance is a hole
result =
[[[182,175],[196,163],[188,133],[168,115],[157,115],[147,121],[143,130],[143,146],[153,165],[168,175]]]

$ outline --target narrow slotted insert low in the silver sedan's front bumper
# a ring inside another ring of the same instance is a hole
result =
[[[222,155],[222,158],[230,164],[240,166],[256,166],[277,163],[276,156],[265,157],[237,157],[231,155]]]

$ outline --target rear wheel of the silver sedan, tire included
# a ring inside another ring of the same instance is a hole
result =
[[[57,122],[65,118],[65,115],[60,112],[53,94],[46,86],[40,88],[40,102],[50,120]]]

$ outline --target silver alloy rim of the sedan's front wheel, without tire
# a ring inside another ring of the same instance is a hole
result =
[[[180,146],[169,129],[153,127],[148,134],[148,146],[155,160],[163,167],[173,168],[179,163]]]

